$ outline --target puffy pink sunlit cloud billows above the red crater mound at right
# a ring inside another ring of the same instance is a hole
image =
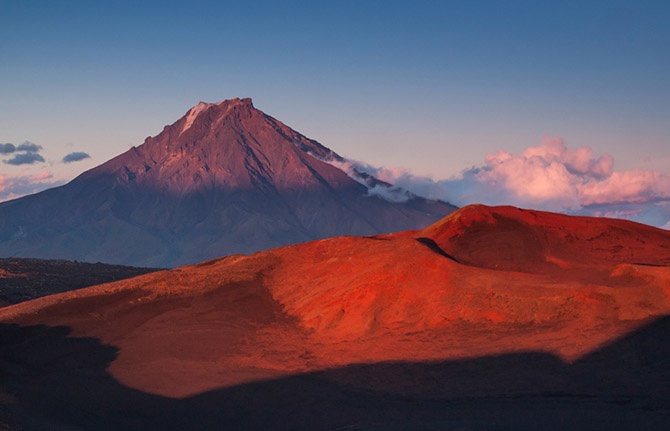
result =
[[[570,150],[561,139],[545,137],[521,155],[489,155],[476,177],[498,184],[511,202],[563,211],[670,199],[670,176],[613,167],[610,155],[596,157],[586,147]]]

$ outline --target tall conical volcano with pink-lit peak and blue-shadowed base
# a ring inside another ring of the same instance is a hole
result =
[[[409,193],[396,202],[372,195],[399,192],[333,166],[342,161],[251,99],[201,102],[70,183],[1,203],[0,256],[174,267],[423,228],[455,209]]]

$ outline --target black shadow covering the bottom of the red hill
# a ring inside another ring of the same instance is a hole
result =
[[[527,352],[351,365],[185,399],[119,384],[117,348],[65,327],[0,325],[9,429],[668,429],[670,318],[574,364]]]

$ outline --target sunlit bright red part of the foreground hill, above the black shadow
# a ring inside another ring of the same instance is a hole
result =
[[[423,231],[229,256],[0,319],[116,346],[116,379],[177,397],[355,363],[531,351],[571,363],[670,311],[669,246],[635,223],[473,206]]]

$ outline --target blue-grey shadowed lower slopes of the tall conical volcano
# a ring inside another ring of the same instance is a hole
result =
[[[113,184],[0,203],[0,256],[174,268],[340,235],[423,229],[455,209],[418,197],[388,202],[358,183],[183,194]]]

